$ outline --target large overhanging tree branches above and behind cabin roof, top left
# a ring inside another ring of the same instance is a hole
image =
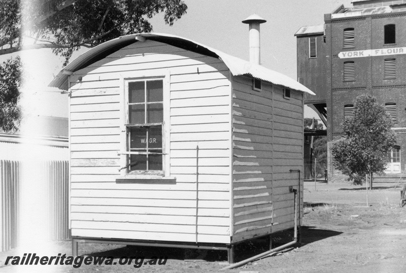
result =
[[[158,13],[163,13],[164,21],[173,25],[186,10],[183,0],[2,0],[0,55],[50,48],[64,57],[66,65],[81,47],[91,48],[123,35],[151,32],[148,19]],[[0,78],[0,85],[7,81]]]

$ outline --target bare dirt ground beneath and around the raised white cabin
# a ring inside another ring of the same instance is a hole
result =
[[[349,183],[304,182],[304,216],[301,244],[272,257],[248,263],[230,272],[406,272],[406,207],[399,207],[400,185],[365,187]],[[289,242],[289,234],[273,237],[273,246]],[[70,242],[57,242],[56,253],[71,255]],[[267,240],[239,246],[237,259],[268,249]],[[225,251],[191,251],[172,248],[125,247],[80,244],[82,255],[113,256],[116,265],[4,265],[7,256],[24,250],[0,253],[2,272],[217,272],[227,265]],[[168,256],[165,265],[119,265],[122,256]],[[224,271],[223,271],[224,272]]]

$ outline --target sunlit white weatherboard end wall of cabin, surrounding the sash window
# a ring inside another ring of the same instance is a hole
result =
[[[145,75],[170,77],[165,176],[175,183],[116,183],[123,80]],[[222,61],[147,40],[77,71],[70,84],[73,236],[230,243],[231,86]]]

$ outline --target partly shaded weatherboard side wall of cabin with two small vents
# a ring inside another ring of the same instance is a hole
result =
[[[233,77],[232,93],[232,241],[239,242],[294,226],[289,186],[299,209],[302,180],[290,170],[303,166],[303,95],[291,90],[286,99],[283,87],[266,82],[253,90],[248,76]]]

